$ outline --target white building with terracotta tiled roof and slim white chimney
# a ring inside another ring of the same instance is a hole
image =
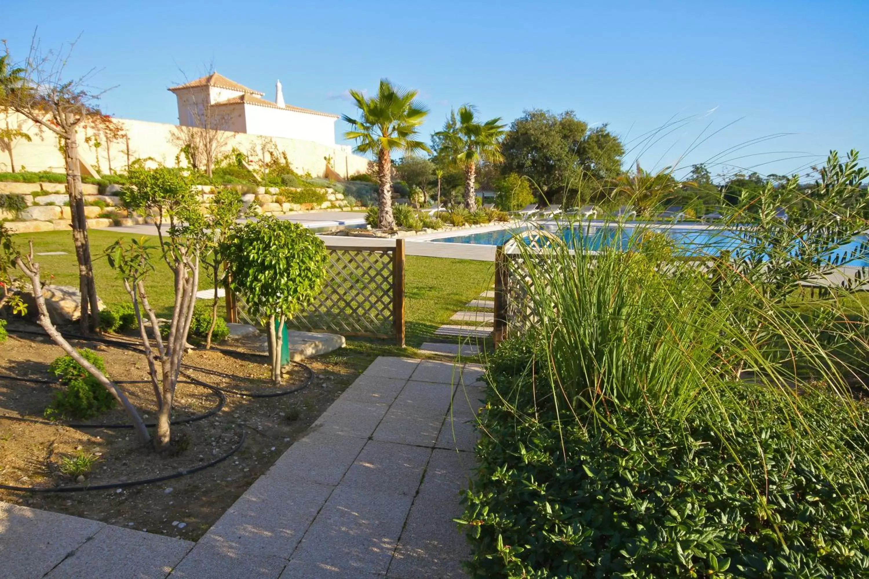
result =
[[[275,86],[275,102],[216,72],[169,89],[178,100],[178,124],[220,128],[298,141],[314,141],[335,147],[338,115],[285,104],[281,81]]]

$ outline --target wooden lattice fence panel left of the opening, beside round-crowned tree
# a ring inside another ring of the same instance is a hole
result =
[[[322,291],[308,311],[289,320],[288,326],[344,335],[394,335],[392,248],[328,251]]]

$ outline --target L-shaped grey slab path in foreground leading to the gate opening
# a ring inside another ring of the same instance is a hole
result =
[[[3,577],[464,577],[481,373],[376,359],[198,543],[0,503]]]

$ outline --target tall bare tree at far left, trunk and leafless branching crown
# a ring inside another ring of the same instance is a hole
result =
[[[94,102],[102,93],[94,92],[89,81],[93,71],[75,80],[67,80],[66,64],[75,43],[59,51],[44,52],[36,36],[30,43],[27,58],[14,78],[0,78],[0,106],[24,115],[36,125],[56,134],[63,148],[66,188],[70,195],[72,239],[78,260],[78,286],[82,293],[81,330],[96,330],[99,307],[96,282],[90,260],[88,222],[84,214],[82,172],[78,155],[78,128],[91,115],[99,114]]]

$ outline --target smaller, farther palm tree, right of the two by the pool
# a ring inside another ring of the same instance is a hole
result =
[[[489,161],[499,163],[504,160],[501,155],[501,140],[504,138],[506,125],[501,124],[501,117],[495,117],[487,122],[477,122],[474,118],[476,108],[473,105],[462,105],[459,108],[459,123],[450,127],[449,122],[444,130],[436,135],[444,137],[457,151],[455,160],[465,170],[465,207],[468,211],[476,211],[477,200],[474,196],[474,179],[477,174],[477,163]]]

